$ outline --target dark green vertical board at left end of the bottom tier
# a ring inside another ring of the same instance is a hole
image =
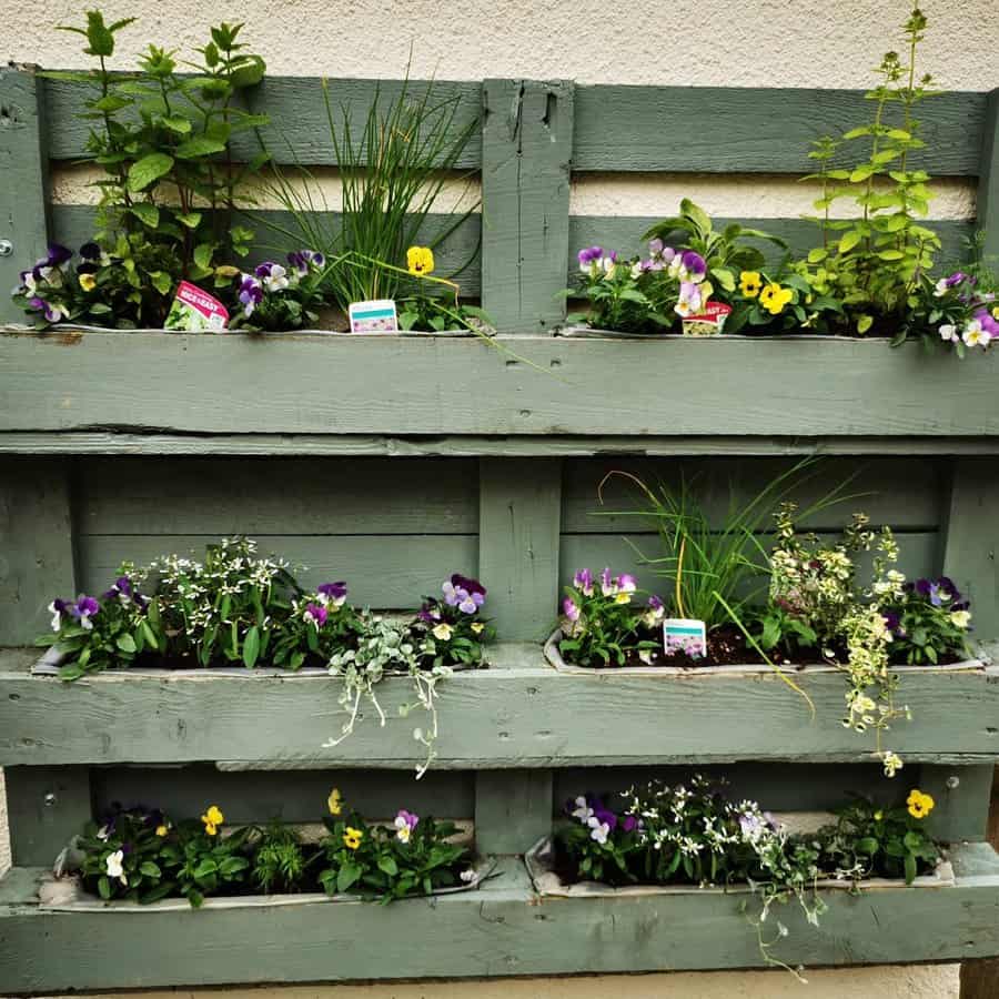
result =
[[[8,767],[7,820],[11,862],[49,867],[91,818],[87,767]]]

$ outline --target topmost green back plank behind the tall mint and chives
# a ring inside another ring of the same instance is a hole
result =
[[[343,122],[350,120],[355,141],[363,135],[367,109],[380,91],[383,108],[397,98],[401,80],[330,79],[330,104],[342,134]],[[413,100],[422,100],[427,81],[410,81]],[[435,80],[432,101],[435,104],[457,101],[457,112],[452,123],[458,134],[481,113],[482,84],[476,81]],[[44,81],[46,110],[48,112],[49,154],[54,160],[75,160],[87,154],[90,122],[83,117],[87,89],[77,83],[57,80]],[[271,124],[261,130],[266,148],[279,163],[304,167],[335,165],[336,157],[330,141],[326,103],[322,79],[319,77],[266,77],[260,87],[246,93],[246,105],[255,114],[271,117]],[[345,113],[344,113],[345,112]],[[260,151],[252,132],[233,141],[233,154],[249,161]],[[476,168],[482,157],[482,141],[475,130],[465,154],[458,163],[462,168]]]

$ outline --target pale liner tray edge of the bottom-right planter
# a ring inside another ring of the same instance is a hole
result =
[[[626,885],[620,888],[612,888],[599,881],[576,881],[566,884],[555,872],[553,867],[554,847],[551,836],[538,840],[525,855],[524,862],[527,874],[534,882],[534,889],[538,895],[554,896],[557,898],[626,898],[647,895],[748,895],[748,885],[729,885],[724,887],[712,886],[699,888],[696,885]],[[859,888],[864,891],[898,890],[906,888],[950,888],[956,884],[953,867],[950,861],[941,859],[932,874],[916,878],[911,885],[906,885],[900,879],[870,878],[860,881]],[[824,878],[816,882],[817,888],[852,889],[854,882],[837,878]]]

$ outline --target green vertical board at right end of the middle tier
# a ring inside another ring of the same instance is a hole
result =
[[[978,638],[999,636],[999,462],[958,458],[944,533],[944,572],[971,601]]]

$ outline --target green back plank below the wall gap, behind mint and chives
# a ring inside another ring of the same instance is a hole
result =
[[[77,250],[93,239],[97,209],[92,205],[53,204],[51,214],[52,239],[56,242]],[[242,215],[243,222],[255,233],[243,266],[249,268],[275,258],[282,260],[289,249],[302,241],[290,212],[253,209]],[[340,232],[343,216],[340,212],[316,212],[313,221],[330,233],[332,239]],[[458,221],[458,216],[446,213],[427,215],[420,228],[420,238],[423,242],[435,243]],[[482,219],[478,214],[473,214],[434,248],[438,273],[455,274],[455,281],[465,299],[477,299],[482,291],[482,268],[477,255],[481,232]],[[404,261],[396,263],[405,265]]]

